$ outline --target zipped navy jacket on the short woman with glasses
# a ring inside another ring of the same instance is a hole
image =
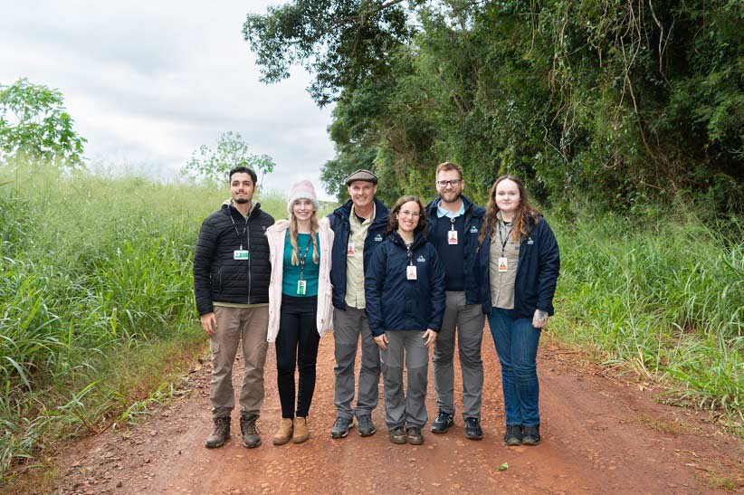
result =
[[[386,330],[431,328],[438,332],[444,317],[444,266],[434,245],[416,233],[411,247],[416,280],[406,277],[408,253],[397,232],[372,255],[364,277],[367,322],[375,337]]]

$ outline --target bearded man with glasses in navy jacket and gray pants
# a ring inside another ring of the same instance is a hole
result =
[[[454,339],[460,349],[463,371],[463,420],[465,436],[481,440],[483,362],[481,342],[484,315],[480,304],[478,233],[485,209],[463,195],[465,181],[457,165],[436,167],[439,197],[426,206],[427,232],[444,264],[446,302],[444,321],[434,346],[434,389],[439,413],[432,432],[446,433],[454,424]]]

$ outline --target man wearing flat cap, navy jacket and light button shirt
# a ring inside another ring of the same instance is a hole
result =
[[[333,438],[344,438],[357,418],[359,434],[377,431],[372,411],[377,407],[380,381],[379,347],[367,325],[364,273],[375,248],[385,238],[388,209],[375,197],[377,176],[360,168],[346,179],[350,199],[329,215],[334,232],[330,283],[333,285],[333,334],[335,339],[337,417],[330,430]],[[354,400],[354,363],[361,339],[357,405]]]

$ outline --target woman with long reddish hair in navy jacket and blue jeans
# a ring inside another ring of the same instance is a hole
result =
[[[501,362],[507,445],[536,445],[540,329],[553,315],[560,259],[548,222],[515,176],[493,183],[480,236],[483,311]]]

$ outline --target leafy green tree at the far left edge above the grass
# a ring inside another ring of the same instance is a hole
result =
[[[0,157],[32,158],[57,167],[83,165],[82,138],[72,128],[62,93],[19,79],[0,84]]]

